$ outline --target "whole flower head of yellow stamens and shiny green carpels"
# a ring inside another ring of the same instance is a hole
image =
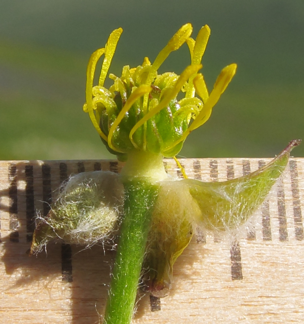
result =
[[[120,159],[133,151],[147,151],[166,157],[175,156],[191,131],[204,124],[236,71],[236,64],[225,67],[211,93],[198,71],[210,29],[202,27],[196,40],[190,37],[191,24],[183,25],[159,52],[153,64],[147,57],[142,65],[123,67],[121,77],[110,74],[114,84],[105,88],[117,42],[123,29],[115,29],[105,48],[95,51],[87,69],[86,103],[83,107],[108,150]],[[158,75],[160,65],[170,52],[187,43],[191,64],[181,75]],[[96,64],[104,54],[99,83],[93,87]],[[184,98],[177,99],[182,91]],[[198,97],[195,97],[195,94]]]

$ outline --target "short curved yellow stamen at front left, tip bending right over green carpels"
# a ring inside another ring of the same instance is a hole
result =
[[[123,106],[122,110],[118,114],[117,118],[115,119],[115,121],[113,122],[113,124],[109,130],[108,145],[112,150],[114,150],[116,152],[124,153],[112,145],[111,140],[112,140],[113,133],[114,133],[115,129],[117,128],[117,126],[119,125],[119,123],[122,121],[126,112],[132,107],[134,102],[139,97],[143,96],[146,93],[149,93],[151,90],[152,90],[152,88],[150,86],[146,86],[146,85],[139,86],[131,93],[130,97],[127,99],[125,105]]]

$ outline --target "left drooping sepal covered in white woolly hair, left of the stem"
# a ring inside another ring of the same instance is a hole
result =
[[[119,226],[123,195],[121,177],[116,173],[94,171],[71,176],[60,186],[49,214],[37,215],[35,252],[54,238],[85,247],[111,241]]]

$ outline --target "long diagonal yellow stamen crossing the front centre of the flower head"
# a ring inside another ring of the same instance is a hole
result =
[[[150,110],[141,120],[139,120],[134,127],[131,129],[131,132],[129,134],[130,141],[134,145],[135,148],[138,148],[138,146],[133,141],[133,134],[135,131],[142,126],[146,121],[148,121],[151,117],[153,117],[155,114],[157,114],[160,110],[162,110],[164,107],[167,107],[169,105],[169,102],[174,99],[178,93],[181,90],[181,87],[184,85],[184,83],[189,79],[189,77],[193,74],[196,74],[199,69],[202,68],[202,65],[189,65],[185,68],[185,70],[181,73],[180,77],[176,81],[174,87],[167,92],[165,98],[161,100],[161,102],[152,110]]]

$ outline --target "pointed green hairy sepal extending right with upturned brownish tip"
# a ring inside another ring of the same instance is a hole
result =
[[[241,178],[224,182],[181,180],[189,186],[190,194],[201,210],[198,223],[211,230],[232,229],[244,224],[263,203],[276,179],[283,173],[290,151],[300,142],[291,141],[265,167]]]

